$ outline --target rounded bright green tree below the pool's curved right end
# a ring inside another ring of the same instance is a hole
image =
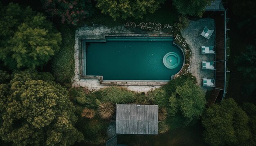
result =
[[[179,112],[186,119],[184,124],[189,124],[198,119],[205,108],[204,92],[193,81],[187,81],[183,86],[178,86],[176,93],[169,100],[170,115]],[[176,104],[176,105],[175,105]]]

